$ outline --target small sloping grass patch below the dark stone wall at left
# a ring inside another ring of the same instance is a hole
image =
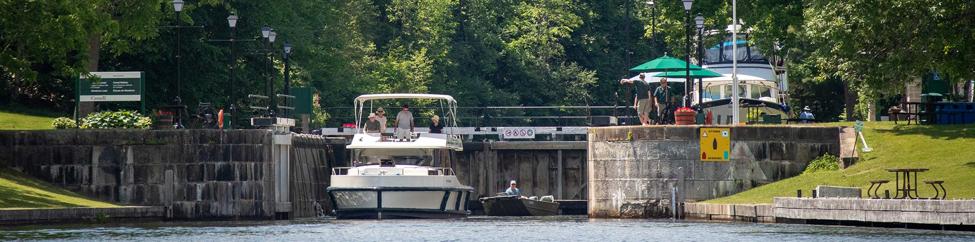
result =
[[[86,198],[30,178],[14,169],[0,167],[0,209],[118,207]]]

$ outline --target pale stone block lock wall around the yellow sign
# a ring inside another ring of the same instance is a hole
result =
[[[700,128],[730,128],[730,161],[700,160]],[[668,217],[683,167],[685,201],[722,197],[799,175],[839,156],[839,127],[666,125],[589,129],[590,218]]]

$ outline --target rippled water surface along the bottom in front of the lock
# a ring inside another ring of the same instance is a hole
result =
[[[0,240],[50,241],[975,241],[975,232],[582,216],[455,220],[167,222],[0,228]]]

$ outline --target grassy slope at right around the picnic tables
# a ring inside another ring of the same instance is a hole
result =
[[[853,122],[831,122],[819,125],[852,126]],[[772,197],[812,194],[816,186],[859,187],[866,190],[871,180],[889,180],[883,190],[894,194],[894,174],[888,168],[928,168],[918,173],[917,193],[934,196],[934,189],[924,180],[945,181],[948,199],[975,197],[975,124],[906,125],[892,121],[867,122],[863,132],[873,152],[859,153],[859,163],[839,171],[800,175],[753,190],[704,201],[706,203],[771,203]],[[857,151],[863,144],[857,142]]]

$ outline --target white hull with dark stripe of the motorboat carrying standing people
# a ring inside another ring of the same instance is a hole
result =
[[[466,218],[470,187],[331,187],[340,220]]]

